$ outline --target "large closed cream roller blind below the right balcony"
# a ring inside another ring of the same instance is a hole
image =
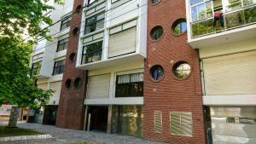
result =
[[[203,60],[206,95],[256,93],[256,51]]]

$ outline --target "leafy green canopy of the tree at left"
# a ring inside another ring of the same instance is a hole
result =
[[[62,0],[53,0],[61,4]],[[30,76],[32,45],[38,37],[50,40],[52,20],[44,13],[54,7],[49,0],[0,0],[0,106],[3,102],[20,108],[46,105],[52,90],[38,89]],[[31,38],[24,40],[24,35]]]

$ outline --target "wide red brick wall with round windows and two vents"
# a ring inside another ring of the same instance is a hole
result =
[[[185,19],[185,1],[161,0],[149,4],[148,0],[148,58],[144,72],[144,124],[143,136],[151,141],[175,144],[206,143],[202,109],[201,76],[198,53],[189,47],[187,33],[172,35],[172,24],[177,19]],[[164,35],[152,42],[149,32],[154,26],[162,26]],[[172,66],[179,60],[187,61],[192,72],[189,78],[178,80],[172,73]],[[155,83],[151,80],[151,66],[164,67],[164,78]],[[154,111],[162,112],[163,130],[154,132]],[[192,112],[193,136],[178,136],[170,133],[170,112]]]

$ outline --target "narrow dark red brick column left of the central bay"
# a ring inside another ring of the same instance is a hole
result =
[[[74,0],[73,11],[77,6],[83,6],[83,0]],[[84,96],[86,93],[87,73],[85,71],[75,68],[76,62],[69,60],[69,55],[77,53],[79,47],[79,33],[76,37],[73,36],[73,29],[78,27],[80,29],[82,10],[78,14],[73,14],[71,27],[69,32],[69,40],[67,47],[66,65],[63,73],[63,80],[61,85],[60,103],[58,107],[56,126],[67,129],[83,130],[84,126]],[[72,86],[66,89],[65,82],[70,78]],[[80,89],[75,89],[73,82],[75,78],[82,78],[82,85]]]

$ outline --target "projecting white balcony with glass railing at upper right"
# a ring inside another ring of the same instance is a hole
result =
[[[217,1],[222,4],[214,5]],[[197,15],[191,10],[188,33],[189,44],[193,48],[201,49],[256,37],[256,1],[236,0],[236,3],[229,4],[224,3],[230,0],[217,1],[202,2],[205,4],[205,9],[197,8]],[[194,9],[193,7],[195,6],[190,6],[190,9]],[[216,13],[223,15],[214,22],[213,14]]]

